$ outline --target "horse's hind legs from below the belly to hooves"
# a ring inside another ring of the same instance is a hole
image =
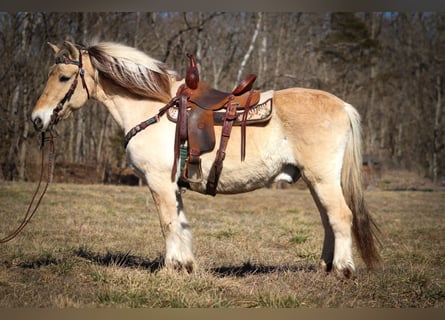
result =
[[[352,257],[352,212],[343,197],[340,183],[309,183],[324,227],[320,266],[350,278],[355,272]]]

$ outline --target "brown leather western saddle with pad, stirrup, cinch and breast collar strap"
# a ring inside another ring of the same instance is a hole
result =
[[[187,69],[185,84],[179,87],[176,96],[161,108],[157,115],[141,122],[127,133],[124,146],[126,147],[138,132],[158,122],[167,112],[169,120],[176,122],[175,159],[171,178],[175,181],[179,160],[178,184],[189,188],[190,183],[203,180],[200,156],[215,148],[214,126],[222,126],[219,148],[206,185],[206,193],[215,196],[232,126],[241,126],[241,161],[244,161],[246,126],[261,125],[270,120],[272,98],[259,103],[260,91],[252,90],[255,74],[247,76],[232,92],[213,89],[207,83],[199,81],[195,59],[191,54],[187,56],[190,66]]]

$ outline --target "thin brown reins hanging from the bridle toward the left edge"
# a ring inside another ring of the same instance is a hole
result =
[[[37,212],[37,209],[40,206],[40,203],[42,202],[43,196],[46,194],[46,191],[48,189],[49,183],[52,180],[52,173],[53,173],[53,169],[54,169],[54,135],[52,131],[49,131],[50,135],[49,137],[45,136],[45,132],[42,132],[42,140],[41,140],[41,144],[40,144],[40,150],[41,150],[41,164],[40,164],[40,179],[39,179],[39,183],[37,185],[37,188],[32,196],[32,199],[28,205],[28,209],[26,210],[26,214],[22,220],[22,222],[20,223],[20,225],[13,231],[11,232],[8,236],[0,239],[0,243],[6,243],[8,241],[11,241],[12,239],[14,239],[24,228],[25,226],[29,223],[29,221],[31,220],[31,218],[35,215],[35,213]],[[37,202],[33,208],[34,202],[36,201],[37,195],[40,191],[40,187],[42,185],[42,181],[43,181],[43,176],[44,176],[44,163],[45,163],[45,142],[49,142],[49,147],[48,147],[48,171],[47,171],[47,180],[46,180],[46,184],[43,188],[42,193],[40,194],[40,196],[37,199]]]

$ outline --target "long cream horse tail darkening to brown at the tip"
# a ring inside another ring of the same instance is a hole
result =
[[[352,211],[352,233],[360,255],[369,269],[380,262],[376,242],[379,228],[369,213],[362,184],[362,138],[360,115],[350,104],[345,104],[350,130],[346,143],[341,183],[346,203]]]

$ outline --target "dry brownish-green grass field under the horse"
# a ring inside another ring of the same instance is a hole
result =
[[[0,183],[0,236],[35,184]],[[366,193],[383,265],[317,271],[323,231],[306,190],[184,194],[198,270],[162,269],[146,187],[50,185],[36,216],[0,245],[0,307],[445,307],[445,193]]]

